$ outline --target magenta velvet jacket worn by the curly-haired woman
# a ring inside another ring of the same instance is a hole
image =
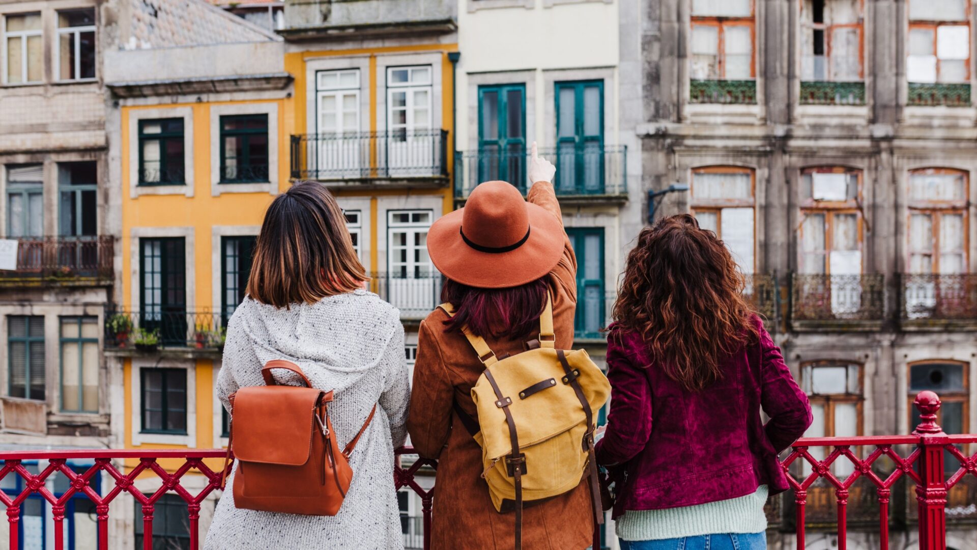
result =
[[[760,484],[787,489],[777,455],[811,425],[811,405],[754,322],[759,342],[724,360],[722,379],[698,393],[669,379],[640,336],[612,326],[611,411],[597,462],[621,466],[614,517],[736,498]]]

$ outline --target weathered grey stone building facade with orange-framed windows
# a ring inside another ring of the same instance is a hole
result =
[[[642,10],[643,185],[688,185],[659,215],[694,213],[750,275],[747,292],[811,395],[807,435],[909,434],[919,390],[944,396],[944,430],[972,431],[971,4],[664,0]],[[948,472],[958,466],[948,457]],[[844,457],[831,468],[853,470]],[[892,544],[912,548],[914,494],[897,489]],[[808,547],[837,544],[839,496],[849,547],[877,544],[879,495],[857,481],[809,491]],[[950,547],[975,548],[975,501],[972,481],[950,491]],[[772,501],[775,547],[794,544],[781,534],[792,506]]]

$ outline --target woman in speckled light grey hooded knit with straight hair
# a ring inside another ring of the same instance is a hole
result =
[[[265,384],[265,363],[296,363],[314,388],[335,392],[329,417],[340,448],[377,408],[349,457],[353,481],[338,514],[236,508],[232,474],[205,550],[404,548],[394,489],[394,448],[404,444],[410,398],[404,327],[397,309],[362,290],[366,280],[345,216],[319,183],[296,183],[269,206],[248,296],[228,327],[218,396],[230,412],[229,395]],[[278,384],[300,385],[290,371],[274,374]]]

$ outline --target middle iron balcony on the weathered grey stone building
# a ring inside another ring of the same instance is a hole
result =
[[[882,275],[801,275],[790,281],[790,324],[796,331],[877,331],[885,321]]]

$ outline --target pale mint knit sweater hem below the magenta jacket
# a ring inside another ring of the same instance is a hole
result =
[[[664,510],[628,510],[617,518],[616,533],[624,540],[660,540],[701,534],[754,533],[767,530],[763,505],[767,485],[739,498]]]

